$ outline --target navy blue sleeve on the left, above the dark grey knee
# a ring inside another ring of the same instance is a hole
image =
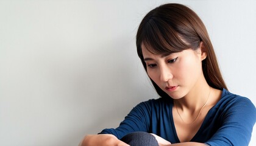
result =
[[[113,134],[118,139],[121,139],[126,134],[135,131],[148,131],[151,117],[150,100],[148,102],[141,102],[135,106],[132,111],[120,123],[118,128],[104,129],[99,134]]]

